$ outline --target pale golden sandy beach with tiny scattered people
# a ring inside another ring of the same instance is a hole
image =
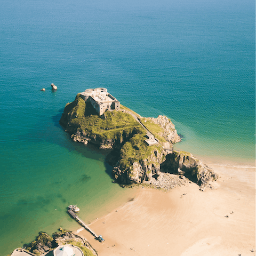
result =
[[[140,188],[134,199],[95,220],[99,243],[79,231],[99,256],[255,255],[255,169],[209,164],[215,189],[187,182],[164,193]]]

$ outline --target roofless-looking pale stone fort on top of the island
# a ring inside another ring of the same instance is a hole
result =
[[[120,102],[113,97],[106,88],[86,89],[81,92],[85,102],[90,102],[93,108],[101,116],[106,110],[119,110]]]

